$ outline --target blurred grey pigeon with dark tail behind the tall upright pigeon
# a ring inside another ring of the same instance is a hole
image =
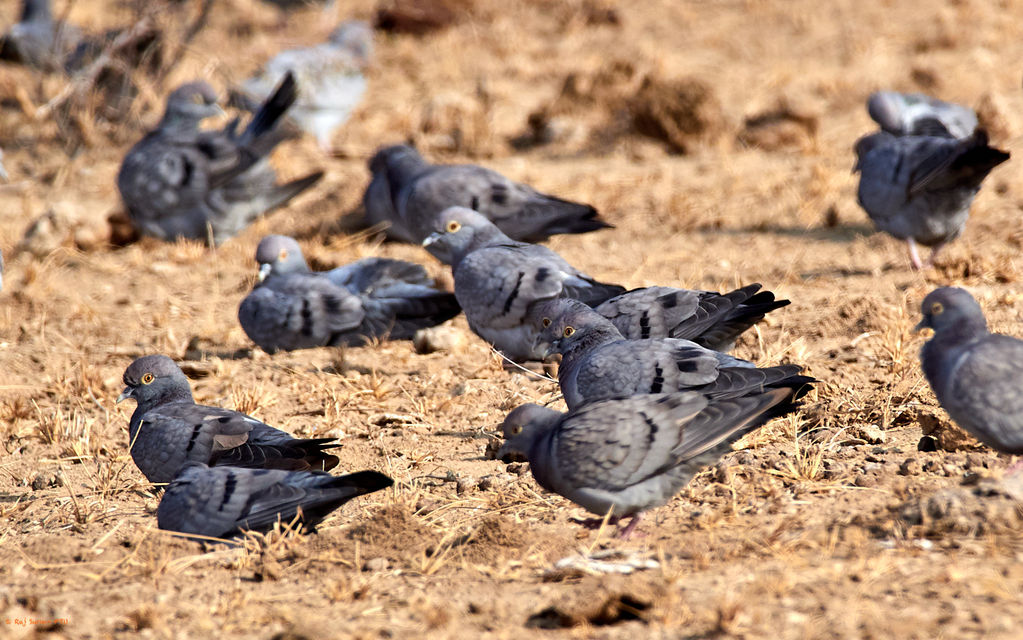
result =
[[[364,197],[366,219],[377,224],[384,215],[391,215],[388,233],[401,240],[421,242],[434,230],[437,215],[448,207],[478,211],[508,237],[530,242],[611,226],[589,204],[540,193],[476,165],[431,165],[404,144],[379,150],[369,169],[373,180]],[[380,181],[386,183],[386,191]],[[388,193],[389,204],[375,201]]]

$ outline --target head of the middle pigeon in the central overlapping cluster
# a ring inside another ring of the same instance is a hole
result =
[[[533,308],[531,315],[539,330],[534,351],[544,356],[624,339],[610,320],[577,300],[544,301]]]

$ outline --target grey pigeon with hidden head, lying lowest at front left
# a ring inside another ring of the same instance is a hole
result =
[[[189,462],[167,486],[157,523],[166,531],[229,538],[242,531],[268,531],[278,520],[286,524],[301,512],[303,525],[313,532],[352,498],[393,484],[376,471],[330,475]]]

